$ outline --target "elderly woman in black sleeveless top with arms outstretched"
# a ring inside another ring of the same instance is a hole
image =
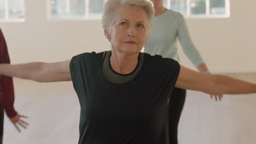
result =
[[[252,83],[140,53],[153,17],[146,0],[110,0],[102,23],[111,51],[56,63],[1,64],[0,74],[38,82],[72,80],[81,107],[79,143],[90,144],[168,143],[166,107],[174,86],[210,94],[256,92]]]

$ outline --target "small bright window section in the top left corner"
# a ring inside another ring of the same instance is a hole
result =
[[[0,0],[0,20],[24,20],[24,0]]]

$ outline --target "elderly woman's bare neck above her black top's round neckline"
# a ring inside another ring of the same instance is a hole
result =
[[[119,74],[130,74],[138,64],[139,53],[118,52],[112,49],[110,65]]]

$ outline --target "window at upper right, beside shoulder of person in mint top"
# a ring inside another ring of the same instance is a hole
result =
[[[229,0],[164,0],[164,5],[185,17],[229,17]]]

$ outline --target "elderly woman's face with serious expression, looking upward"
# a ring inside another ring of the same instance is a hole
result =
[[[136,6],[120,6],[115,11],[115,18],[110,34],[105,35],[112,48],[125,53],[138,53],[147,43],[147,15]]]

